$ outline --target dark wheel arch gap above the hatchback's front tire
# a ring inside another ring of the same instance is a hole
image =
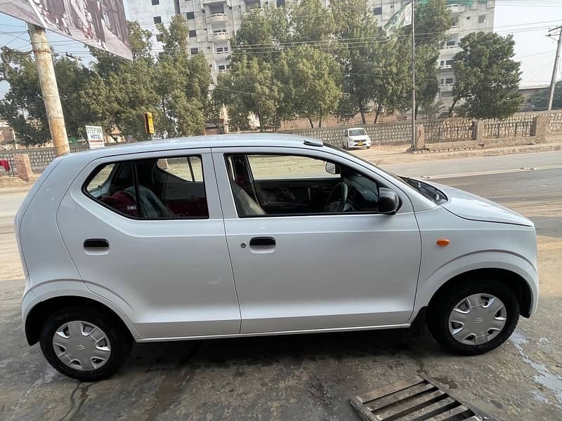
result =
[[[519,312],[523,317],[530,317],[532,312],[532,290],[527,281],[516,272],[509,269],[500,268],[480,268],[472,269],[462,274],[457,274],[451,279],[443,283],[438,290],[431,296],[428,307],[431,308],[433,303],[440,298],[441,295],[452,288],[456,283],[467,281],[475,278],[492,278],[502,282],[507,288],[514,291],[519,302]]]

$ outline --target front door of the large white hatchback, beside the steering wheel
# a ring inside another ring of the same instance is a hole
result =
[[[420,262],[419,229],[409,199],[395,187],[402,201],[396,215],[334,212],[318,203],[329,201],[330,192],[313,199],[328,185],[339,188],[340,180],[325,172],[326,162],[356,171],[354,180],[393,186],[341,156],[295,150],[213,149],[241,333],[403,325],[412,314]],[[237,184],[232,162],[243,156],[257,189]],[[304,209],[288,206],[287,213],[268,208],[260,187],[271,192],[275,180],[289,192],[296,185],[297,194],[284,197],[297,199],[309,180],[304,196],[310,203],[303,203]]]

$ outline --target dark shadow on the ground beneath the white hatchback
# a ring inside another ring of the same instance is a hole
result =
[[[445,354],[424,328],[363,330],[348,333],[259,336],[216,340],[137,344],[126,367],[150,368],[197,364],[204,368],[270,366],[296,361],[341,361],[405,354],[413,359]],[[179,367],[178,367],[179,368]]]

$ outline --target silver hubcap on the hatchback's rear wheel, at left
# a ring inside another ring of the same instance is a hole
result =
[[[75,370],[96,370],[110,359],[111,344],[107,335],[88,321],[69,321],[53,335],[53,349],[60,361]]]

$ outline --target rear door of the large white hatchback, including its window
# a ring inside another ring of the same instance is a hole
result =
[[[240,332],[210,149],[93,161],[57,220],[86,286],[144,338]]]

